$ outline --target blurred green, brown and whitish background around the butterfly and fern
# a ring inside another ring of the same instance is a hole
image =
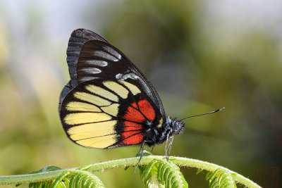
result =
[[[69,80],[66,48],[80,27],[121,49],[157,88],[168,115],[226,107],[186,120],[173,156],[255,182],[261,167],[282,174],[281,12],[278,0],[0,1],[0,175],[137,153],[138,146],[85,149],[63,132],[57,108]],[[164,144],[153,153],[163,155]],[[208,187],[203,173],[182,171],[190,187]],[[132,168],[97,175],[106,187],[144,187]]]

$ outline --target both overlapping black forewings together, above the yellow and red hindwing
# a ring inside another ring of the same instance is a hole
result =
[[[77,84],[97,78],[138,82],[152,102],[158,106],[165,120],[164,106],[154,86],[145,75],[115,46],[90,30],[73,31],[67,49],[67,62],[71,81],[61,92],[59,104],[64,96]]]

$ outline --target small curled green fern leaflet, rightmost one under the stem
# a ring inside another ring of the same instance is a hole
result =
[[[235,188],[235,180],[232,173],[223,170],[222,168],[216,169],[214,172],[208,172],[206,180],[209,180],[209,187],[211,188]]]

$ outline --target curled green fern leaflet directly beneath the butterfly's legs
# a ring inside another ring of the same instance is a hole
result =
[[[148,165],[142,165],[140,176],[146,187],[188,187],[180,168],[174,163],[153,159]]]

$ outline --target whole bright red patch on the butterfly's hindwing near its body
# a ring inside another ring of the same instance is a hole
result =
[[[125,121],[123,122],[124,127],[123,133],[121,134],[123,141],[121,144],[140,144],[143,141],[143,131],[145,129],[142,124],[144,124],[146,120],[153,121],[155,116],[154,108],[147,99],[142,99],[137,103],[133,102],[130,104],[123,116]]]

